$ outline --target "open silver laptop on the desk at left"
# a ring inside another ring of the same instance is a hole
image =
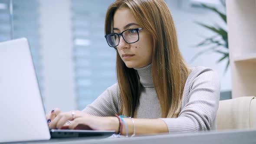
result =
[[[51,137],[110,136],[115,133],[49,130],[26,38],[0,43],[0,123],[0,143],[49,140]]]

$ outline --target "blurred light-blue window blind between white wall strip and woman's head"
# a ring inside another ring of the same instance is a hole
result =
[[[105,13],[115,0],[71,0],[76,101],[79,110],[116,83],[115,49],[104,37]]]

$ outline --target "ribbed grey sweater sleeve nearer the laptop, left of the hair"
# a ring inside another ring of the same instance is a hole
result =
[[[118,112],[118,85],[117,83],[107,88],[92,104],[83,110],[85,113],[95,116],[115,116]]]

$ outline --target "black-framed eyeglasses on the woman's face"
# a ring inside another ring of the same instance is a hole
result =
[[[139,30],[143,28],[137,28],[137,29],[127,29],[123,31],[122,33],[109,33],[105,35],[105,38],[108,42],[108,46],[110,47],[116,47],[118,46],[120,42],[120,36],[123,37],[126,43],[136,43],[139,41]]]

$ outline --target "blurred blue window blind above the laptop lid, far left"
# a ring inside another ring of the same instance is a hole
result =
[[[0,41],[26,37],[30,43],[39,86],[43,92],[37,0],[0,0]]]

